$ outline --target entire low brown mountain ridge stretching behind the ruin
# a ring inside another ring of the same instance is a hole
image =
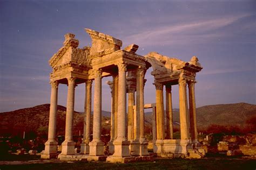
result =
[[[0,135],[23,131],[47,132],[50,104],[37,105],[32,108],[0,113]],[[198,128],[207,128],[211,124],[244,126],[246,121],[256,117],[256,105],[248,103],[206,105],[196,109]],[[66,108],[57,108],[57,135],[65,131]],[[110,129],[109,111],[102,111],[102,128]],[[93,116],[91,116],[91,122]],[[179,109],[173,109],[174,125],[179,125]],[[74,134],[82,133],[84,115],[74,112]],[[92,126],[92,123],[91,123]],[[151,112],[145,112],[145,126],[152,126]]]

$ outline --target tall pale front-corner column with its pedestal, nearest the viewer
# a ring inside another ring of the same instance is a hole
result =
[[[130,142],[126,137],[126,65],[118,64],[118,115],[117,138],[113,141],[113,157],[129,157]]]

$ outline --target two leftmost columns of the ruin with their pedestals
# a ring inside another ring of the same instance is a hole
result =
[[[76,78],[68,78],[68,97],[66,105],[66,128],[65,140],[62,143],[61,154],[75,154],[75,142],[73,141],[73,112],[75,102],[75,84]],[[48,141],[45,143],[45,150],[41,158],[55,158],[57,155],[56,141],[56,119],[57,119],[57,100],[58,100],[58,82],[51,82],[51,103],[49,116]]]

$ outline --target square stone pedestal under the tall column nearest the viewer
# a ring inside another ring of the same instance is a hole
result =
[[[129,151],[130,141],[128,140],[114,140],[114,154],[113,157],[131,157]]]

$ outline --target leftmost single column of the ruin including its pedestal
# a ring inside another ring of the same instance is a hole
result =
[[[57,145],[56,141],[56,118],[57,118],[57,101],[58,101],[58,82],[50,82],[51,84],[51,104],[49,115],[49,131],[48,140],[45,143],[44,154],[41,158],[50,159],[57,157]]]

